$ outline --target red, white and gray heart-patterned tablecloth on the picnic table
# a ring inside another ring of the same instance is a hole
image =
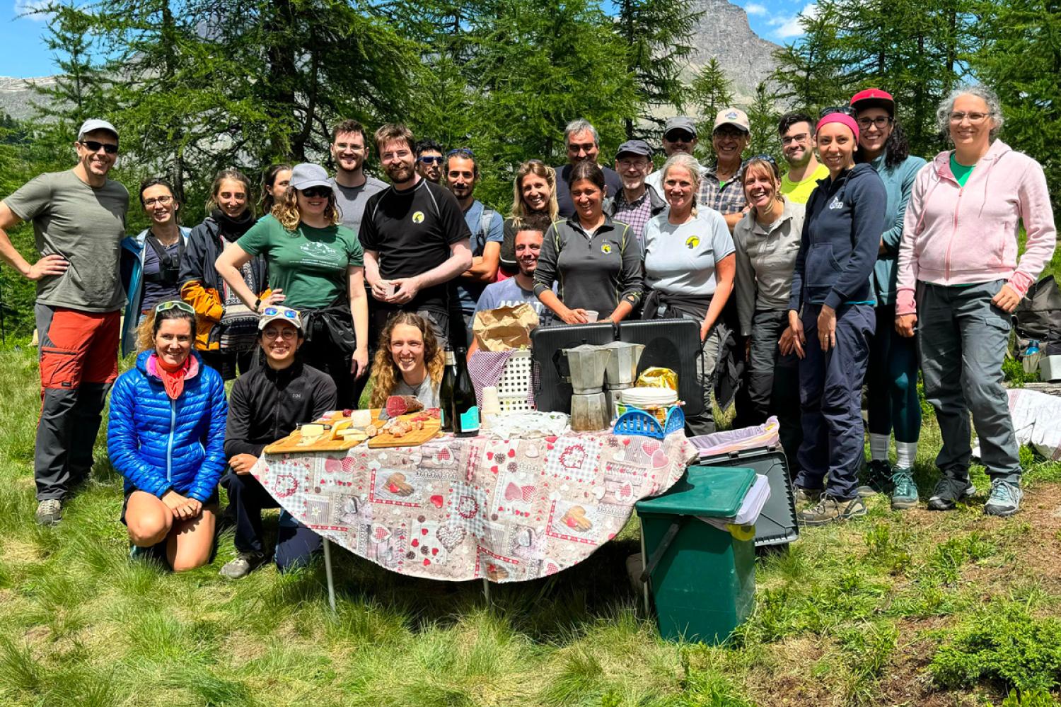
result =
[[[695,458],[681,432],[447,436],[418,447],[263,455],[253,474],[293,516],[387,569],[518,582],[588,558]]]

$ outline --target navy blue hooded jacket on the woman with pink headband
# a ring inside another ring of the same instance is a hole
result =
[[[875,302],[870,276],[884,231],[888,195],[876,170],[856,164],[818,181],[806,202],[788,308]]]

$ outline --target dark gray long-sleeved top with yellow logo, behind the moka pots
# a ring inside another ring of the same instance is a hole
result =
[[[559,283],[557,296],[572,310],[594,310],[604,319],[621,301],[641,299],[641,246],[633,230],[610,216],[592,235],[577,216],[554,222],[534,271],[534,294]]]

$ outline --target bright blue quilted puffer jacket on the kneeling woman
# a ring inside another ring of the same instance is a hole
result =
[[[115,382],[107,423],[110,463],[125,477],[125,493],[161,498],[173,490],[205,502],[225,469],[225,383],[193,351],[184,392],[170,400],[161,378],[147,372],[153,353],[140,353],[136,368]]]

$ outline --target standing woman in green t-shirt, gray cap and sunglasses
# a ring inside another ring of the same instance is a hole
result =
[[[269,300],[257,298],[240,269],[255,255],[268,263]],[[335,382],[338,404],[356,407],[353,379],[368,371],[368,298],[364,251],[358,235],[341,225],[328,173],[317,164],[296,164],[291,188],[218,259],[216,268],[257,313],[282,302],[301,315],[302,363]]]

